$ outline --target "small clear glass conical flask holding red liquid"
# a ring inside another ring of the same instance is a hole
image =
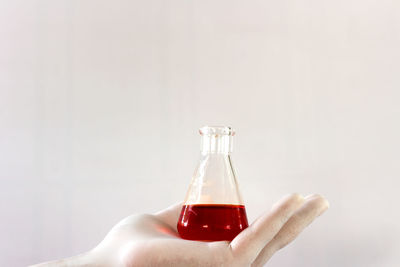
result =
[[[200,163],[177,225],[184,239],[231,241],[248,227],[230,156],[234,134],[231,127],[200,128]]]

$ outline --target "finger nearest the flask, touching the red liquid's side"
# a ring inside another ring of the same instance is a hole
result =
[[[284,197],[270,212],[235,237],[230,244],[233,254],[246,262],[253,262],[303,202],[304,198],[299,194]]]

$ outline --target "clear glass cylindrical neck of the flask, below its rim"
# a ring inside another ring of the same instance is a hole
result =
[[[203,135],[201,137],[201,154],[225,154],[232,153],[232,135]]]

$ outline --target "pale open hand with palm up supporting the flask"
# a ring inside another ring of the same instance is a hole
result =
[[[263,266],[328,209],[329,203],[320,195],[288,195],[232,242],[181,239],[176,230],[181,207],[176,204],[153,215],[129,216],[91,251],[35,266]]]

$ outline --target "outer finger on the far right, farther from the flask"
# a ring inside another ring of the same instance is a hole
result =
[[[304,205],[281,228],[257,256],[252,266],[263,266],[279,249],[292,242],[315,218],[329,208],[328,201],[320,195],[306,197]]]

